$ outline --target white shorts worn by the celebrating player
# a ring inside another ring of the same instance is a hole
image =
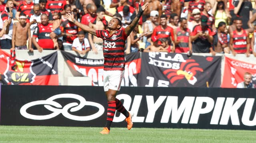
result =
[[[108,91],[108,89],[119,91],[123,76],[124,71],[104,71],[104,92]]]

